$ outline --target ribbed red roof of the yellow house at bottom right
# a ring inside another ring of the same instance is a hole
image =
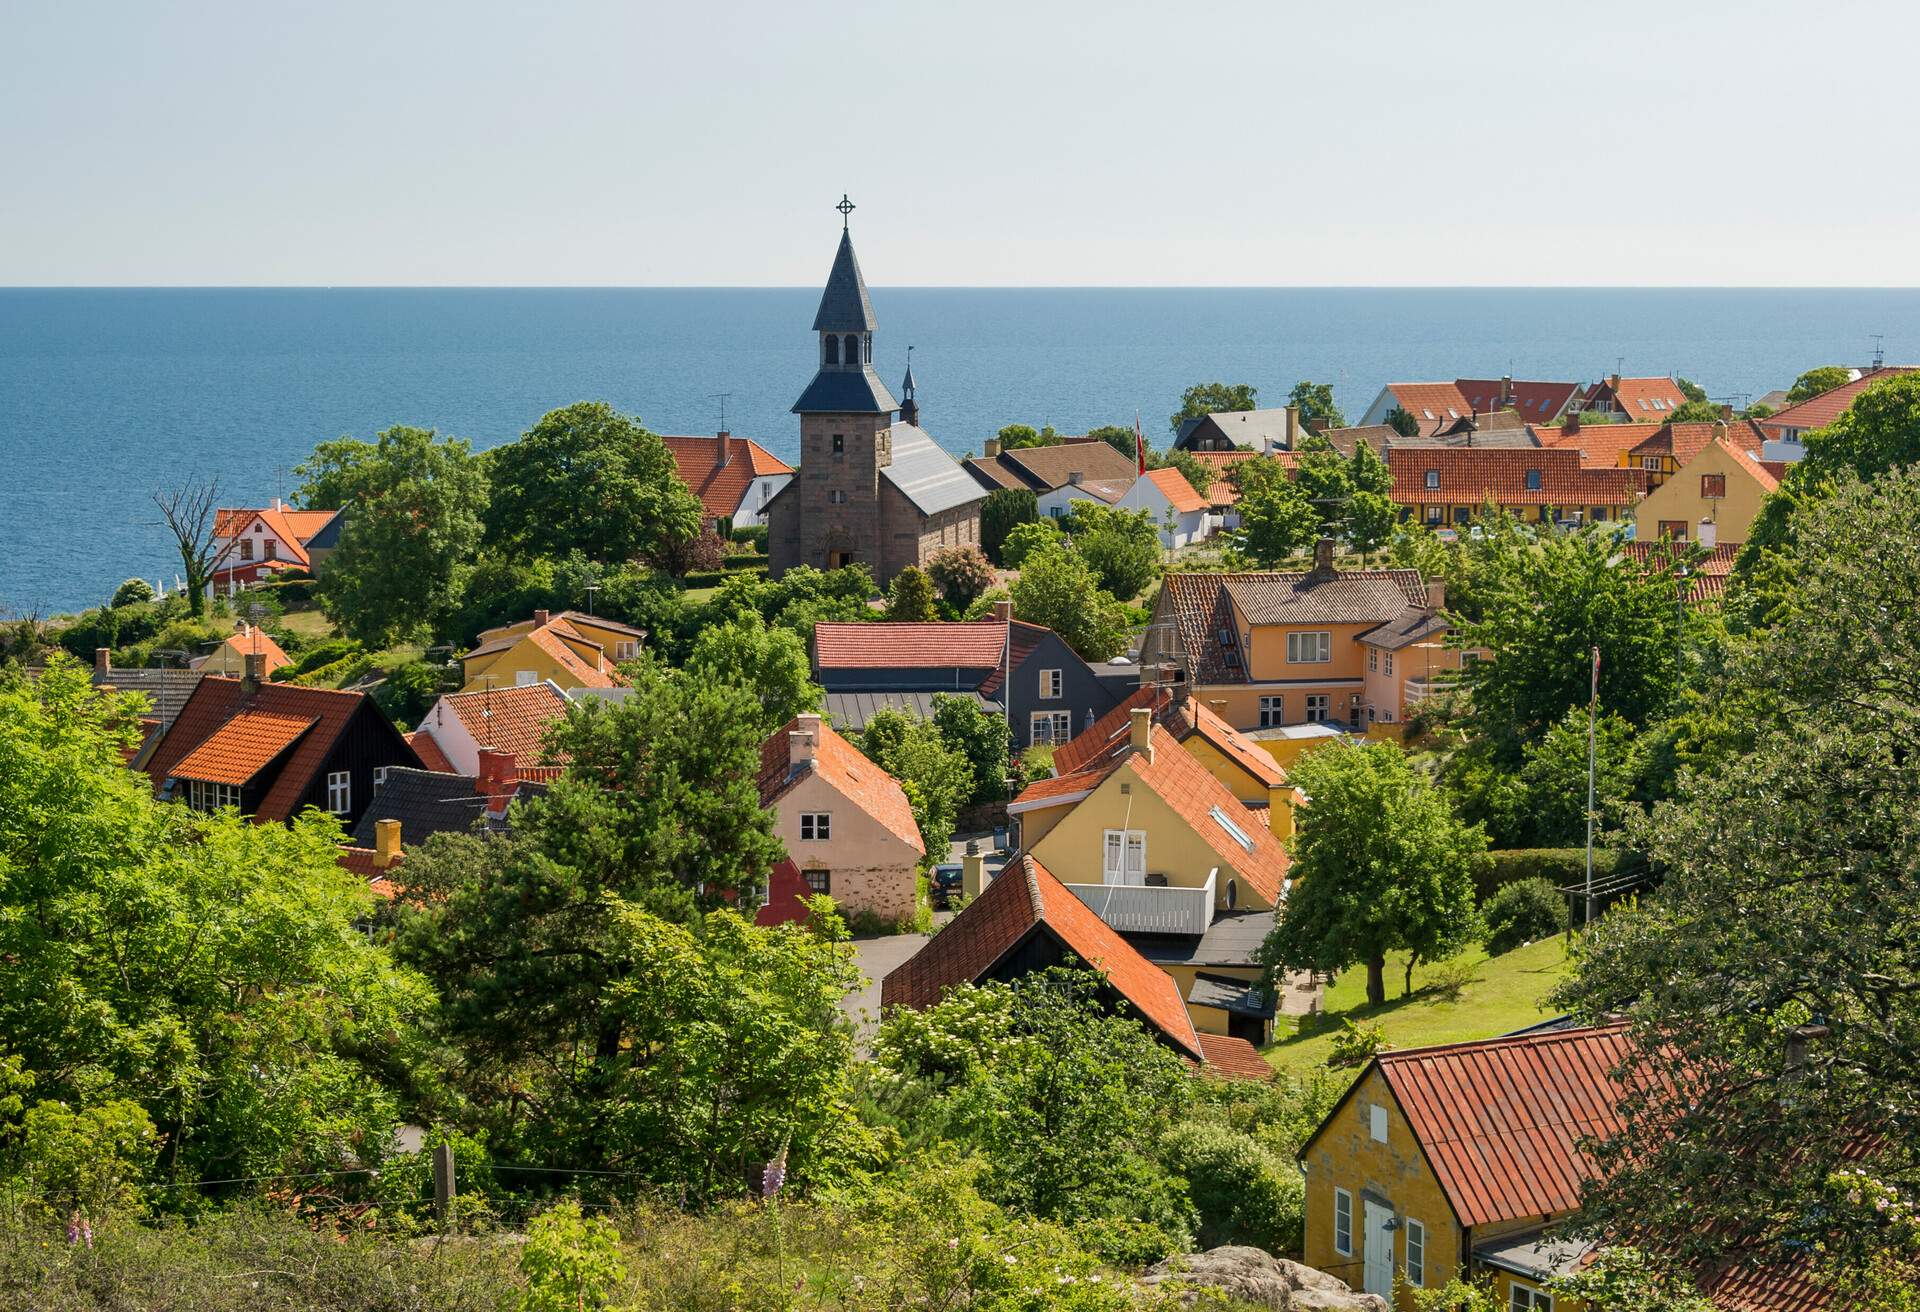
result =
[[[1594,1160],[1578,1147],[1620,1128],[1626,1026],[1559,1030],[1380,1053],[1461,1226],[1557,1216],[1580,1204]]]

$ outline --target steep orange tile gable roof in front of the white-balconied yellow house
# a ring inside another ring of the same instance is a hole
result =
[[[981,980],[1043,926],[1062,947],[1098,970],[1185,1057],[1206,1060],[1173,978],[1140,957],[1046,866],[1027,855],[1014,857],[931,943],[881,982],[881,1007],[933,1007],[947,989]]]

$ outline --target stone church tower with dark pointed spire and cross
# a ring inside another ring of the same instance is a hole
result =
[[[793,403],[801,417],[797,546],[801,563],[839,569],[858,561],[879,574],[879,471],[893,463],[893,413],[900,403],[874,373],[874,302],[852,254],[852,202],[841,196],[837,207],[841,244],[814,315],[820,363]]]

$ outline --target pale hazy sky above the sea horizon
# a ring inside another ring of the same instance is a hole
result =
[[[0,286],[812,286],[843,192],[881,286],[1914,286],[1916,48],[1891,0],[0,0]]]

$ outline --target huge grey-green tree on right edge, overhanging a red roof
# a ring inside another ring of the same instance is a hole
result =
[[[1557,1001],[1632,1018],[1594,1229],[1866,1272],[1920,1243],[1889,1224],[1920,1179],[1920,471],[1797,519],[1797,586],[1711,690],[1751,743],[1630,818],[1663,882],[1599,920]]]

